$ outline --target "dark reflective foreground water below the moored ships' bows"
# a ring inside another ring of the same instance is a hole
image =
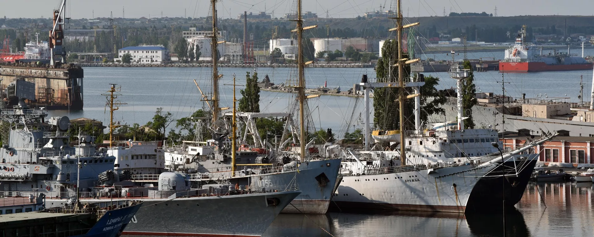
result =
[[[506,209],[505,236],[594,236],[592,183],[530,183]],[[233,221],[233,220],[229,220]],[[265,237],[504,236],[503,214],[424,212],[280,214]]]

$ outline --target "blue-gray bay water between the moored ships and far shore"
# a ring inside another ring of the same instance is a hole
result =
[[[591,50],[591,49],[590,49]],[[477,54],[477,53],[472,53]],[[484,52],[485,56],[494,52]],[[481,55],[471,55],[469,57]],[[232,105],[232,75],[235,73],[238,85],[245,84],[245,73],[248,68],[221,68],[224,76],[220,79],[220,100],[222,107]],[[270,76],[276,84],[295,83],[296,69],[293,68],[258,68],[258,76]],[[72,119],[87,117],[90,119],[109,120],[109,111],[105,108],[104,95],[110,83],[122,86],[118,100],[128,103],[122,105],[115,113],[115,120],[122,124],[145,124],[151,120],[156,108],[163,107],[173,117],[179,119],[189,116],[193,111],[203,107],[200,92],[194,84],[194,79],[204,93],[210,91],[210,68],[84,68],[84,110],[83,111],[49,111],[51,116],[69,116]],[[347,91],[361,81],[361,76],[367,74],[373,78],[372,68],[310,68],[306,70],[307,87],[323,86],[340,87]],[[440,78],[437,89],[455,87],[455,81],[447,72],[425,73],[425,75]],[[580,76],[583,76],[583,95],[589,101],[589,89],[592,82],[592,71],[568,72],[535,72],[535,73],[505,73],[505,94],[512,97],[526,98],[542,97],[570,97],[571,101],[579,101]],[[502,73],[497,71],[475,72],[477,92],[495,92],[501,94]],[[237,96],[241,97],[238,86]],[[206,95],[208,96],[208,95]],[[295,95],[285,92],[260,92],[260,109],[263,112],[286,112],[294,103]],[[353,127],[362,127],[359,117],[363,113],[363,99],[322,95],[309,99],[314,124],[310,127],[320,129],[331,128],[339,136],[344,132],[352,132]],[[453,109],[453,108],[446,108]],[[441,122],[441,121],[430,121]],[[168,127],[172,129],[173,125]]]

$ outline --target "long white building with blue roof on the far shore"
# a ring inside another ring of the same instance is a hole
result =
[[[163,63],[169,61],[169,50],[163,46],[129,46],[118,50],[121,59],[124,53],[132,55],[132,63]]]

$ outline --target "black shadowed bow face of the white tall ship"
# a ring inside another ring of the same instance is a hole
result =
[[[505,200],[505,206],[511,207],[522,199],[526,186],[530,181],[530,175],[534,170],[536,161],[538,161],[538,154],[527,155],[527,159],[518,159],[522,155],[513,157],[513,161],[505,161],[503,166],[499,165],[491,174],[487,174],[479,180],[470,194],[466,207],[467,212],[498,210],[503,207],[503,200]],[[501,164],[501,162],[498,162],[498,164]],[[504,170],[505,178],[501,176],[504,167],[508,167]],[[517,168],[511,169],[509,167]],[[519,171],[517,175],[515,170]]]

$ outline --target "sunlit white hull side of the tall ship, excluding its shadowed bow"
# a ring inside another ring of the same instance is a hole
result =
[[[334,194],[340,210],[378,209],[463,213],[480,174],[495,165],[345,176]]]

